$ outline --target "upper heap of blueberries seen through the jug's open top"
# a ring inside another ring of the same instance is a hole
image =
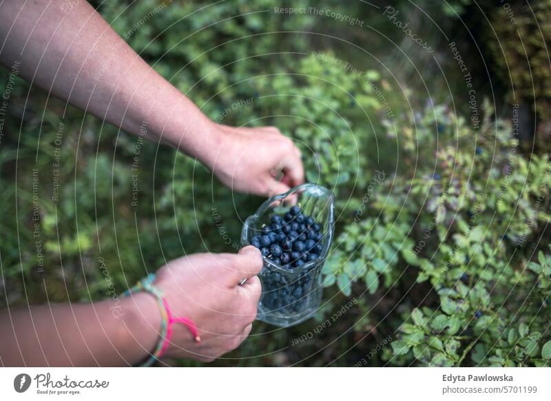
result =
[[[271,224],[264,225],[261,234],[251,238],[251,245],[260,249],[273,263],[287,269],[300,267],[320,257],[323,234],[314,218],[306,216],[298,206],[289,212],[271,216]]]

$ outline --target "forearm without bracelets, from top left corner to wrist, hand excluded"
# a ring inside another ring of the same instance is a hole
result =
[[[214,124],[141,59],[85,1],[3,1],[0,61],[55,96],[210,165]]]

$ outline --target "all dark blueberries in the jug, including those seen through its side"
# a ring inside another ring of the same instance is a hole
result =
[[[289,271],[318,259],[322,252],[324,234],[321,225],[298,206],[291,207],[282,215],[273,214],[271,224],[264,225],[260,231],[260,235],[251,238],[251,245]],[[277,271],[264,271],[261,276],[262,307],[283,314],[300,312],[319,274],[319,271],[312,274],[309,270],[300,271],[295,280]]]

